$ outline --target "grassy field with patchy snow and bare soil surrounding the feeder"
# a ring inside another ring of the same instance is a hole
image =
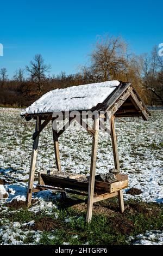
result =
[[[20,109],[0,108],[0,181],[9,197],[1,199],[1,244],[123,245],[162,244],[162,119],[163,111],[152,111],[148,121],[126,118],[116,121],[121,172],[129,176],[124,190],[126,211],[118,212],[117,199],[96,203],[90,225],[85,224],[86,198],[62,202],[51,191],[34,194],[33,206],[25,207],[32,152],[34,122],[20,117]],[[51,126],[40,136],[36,178],[39,170],[55,168]],[[60,137],[62,170],[89,174],[91,136],[77,124]],[[114,167],[111,141],[99,134],[97,173]]]

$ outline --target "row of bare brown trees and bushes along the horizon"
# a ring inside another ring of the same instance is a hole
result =
[[[26,68],[17,69],[8,79],[6,68],[0,69],[0,106],[25,107],[42,94],[92,82],[119,80],[131,82],[147,105],[163,105],[163,58],[158,49],[136,56],[121,37],[99,37],[89,62],[77,74],[50,75],[51,66],[40,54]]]

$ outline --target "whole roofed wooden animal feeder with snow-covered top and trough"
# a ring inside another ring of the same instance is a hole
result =
[[[102,93],[102,89],[105,90],[105,93]],[[91,90],[94,90],[94,96],[93,93],[90,93]],[[140,99],[139,94],[137,94],[135,88],[130,83],[108,81],[98,84],[70,87],[68,88],[68,92],[70,92],[68,96],[69,98],[67,97],[67,90],[59,90],[59,92],[58,90],[54,90],[50,93],[47,93],[45,96],[33,103],[29,108],[27,108],[22,114],[22,116],[25,117],[27,121],[31,120],[32,118],[36,120],[36,129],[33,134],[34,143],[29,172],[27,205],[28,207],[31,205],[32,193],[38,192],[40,190],[52,189],[61,192],[63,198],[65,198],[66,193],[87,196],[87,222],[91,221],[93,203],[111,197],[118,196],[120,211],[123,212],[124,204],[122,189],[128,187],[127,175],[116,174],[117,181],[113,183],[97,181],[95,179],[99,127],[102,127],[111,136],[115,169],[120,170],[114,119],[116,117],[141,116],[143,120],[147,120],[148,116],[151,114]],[[51,97],[49,97],[49,94]],[[106,94],[105,98],[103,94]],[[87,100],[85,100],[86,97],[88,97]],[[80,103],[79,105],[76,99],[78,99]],[[89,106],[91,105],[91,108],[87,108],[88,103],[90,103]],[[64,104],[67,104],[67,106],[65,107]],[[72,105],[75,105],[74,109],[72,109]],[[82,109],[79,108],[81,105]],[[38,106],[40,106],[40,108],[38,108]],[[84,118],[83,111],[86,112],[86,116],[84,116]],[[94,113],[93,115],[92,112]],[[64,124],[60,130],[57,128],[58,117],[63,117],[64,120],[68,117],[68,122]],[[109,117],[110,130],[104,126],[104,122],[100,122],[101,119],[105,121],[107,117]],[[90,118],[93,121],[92,128],[89,127],[89,125],[84,121],[85,119],[87,120]],[[60,176],[61,164],[59,155],[59,136],[64,133],[66,128],[70,126],[74,120],[76,120],[82,126],[85,124],[83,127],[92,136],[92,153],[89,181],[82,181],[77,180],[76,178]],[[39,135],[49,122],[55,124],[52,125],[52,132],[55,151],[55,163],[58,170],[58,175],[54,175],[52,173],[47,174],[47,171],[39,172],[39,183],[37,184],[36,188],[34,188],[33,182],[35,175],[37,147],[39,144]]]

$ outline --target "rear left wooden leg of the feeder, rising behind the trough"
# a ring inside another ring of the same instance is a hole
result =
[[[56,163],[58,171],[61,171],[58,134],[57,134],[57,130],[53,129],[53,121],[52,121],[52,131],[53,131],[53,141],[54,141],[54,151],[55,151],[55,163]],[[65,192],[61,192],[61,198],[63,200],[66,199],[66,193]]]

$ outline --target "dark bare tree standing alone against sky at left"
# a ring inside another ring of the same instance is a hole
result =
[[[44,63],[44,59],[40,54],[35,55],[33,61],[30,61],[30,65],[26,66],[30,78],[39,86],[40,94],[42,94],[43,90],[43,80],[46,78],[45,73],[48,72],[50,68],[51,66]]]

